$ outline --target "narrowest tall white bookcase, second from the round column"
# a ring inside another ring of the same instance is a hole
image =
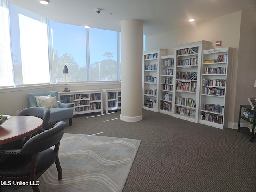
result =
[[[161,57],[160,77],[159,112],[172,115],[174,55]]]

